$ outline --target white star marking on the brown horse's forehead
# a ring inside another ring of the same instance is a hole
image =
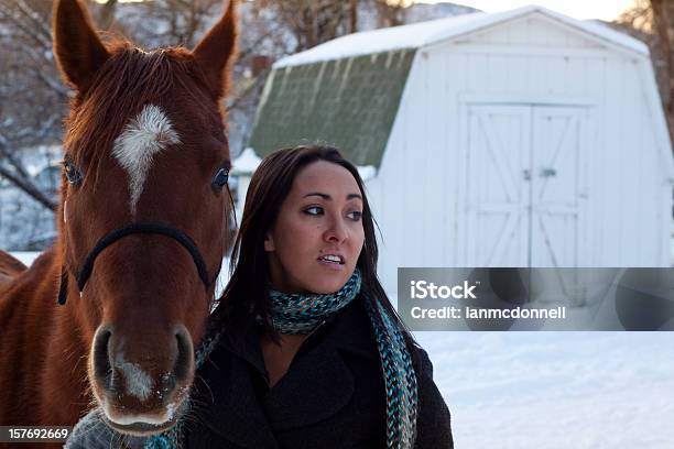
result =
[[[154,155],[171,144],[181,143],[178,134],[162,109],[148,105],[115,140],[112,155],[129,174],[131,215],[135,209]]]

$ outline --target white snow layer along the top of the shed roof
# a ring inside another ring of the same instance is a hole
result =
[[[366,31],[337,37],[302,53],[287,56],[274,64],[274,68],[340,59],[402,48],[418,48],[436,42],[457,37],[533,12],[543,13],[569,26],[579,29],[604,41],[649,54],[648,46],[627,34],[593,21],[580,21],[539,6],[528,6],[503,12],[476,12],[446,19],[413,23],[410,25]]]

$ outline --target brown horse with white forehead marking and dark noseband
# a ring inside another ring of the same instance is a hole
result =
[[[58,239],[28,270],[0,254],[0,425],[72,426],[95,404],[150,435],[181,416],[228,238],[233,2],[193,51],[148,53],[55,1],[76,90]]]

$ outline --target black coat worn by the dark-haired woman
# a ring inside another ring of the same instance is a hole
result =
[[[231,319],[198,372],[188,448],[384,448],[385,401],[379,353],[360,298],[302,344],[269,387],[258,327]],[[428,355],[418,349],[417,448],[453,448],[449,410]]]

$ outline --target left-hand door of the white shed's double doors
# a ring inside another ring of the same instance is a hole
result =
[[[468,127],[467,266],[526,266],[531,108],[471,106]]]

